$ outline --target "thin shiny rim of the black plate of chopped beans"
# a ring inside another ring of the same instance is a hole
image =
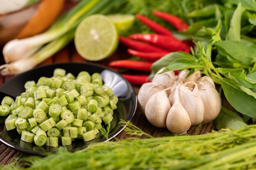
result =
[[[30,69],[26,72],[23,72],[21,74],[18,74],[16,76],[19,76],[19,75],[22,75],[22,74],[27,74],[27,72],[31,72],[33,70],[36,70],[36,69],[41,69],[43,67],[47,67],[47,66],[54,66],[54,65],[67,65],[67,64],[81,64],[81,65],[92,65],[94,67],[101,67],[103,69],[107,69],[111,72],[114,72],[115,74],[118,74],[119,76],[121,76],[127,83],[128,87],[132,90],[132,93],[134,94],[134,99],[132,99],[132,101],[135,100],[135,103],[134,103],[134,106],[135,107],[132,107],[131,108],[131,111],[130,113],[128,114],[128,117],[126,118],[126,121],[127,122],[130,122],[133,118],[133,116],[135,115],[135,112],[137,110],[137,96],[135,94],[135,91],[134,89],[132,88],[131,84],[126,80],[126,78],[124,78],[124,76],[122,76],[121,74],[119,74],[118,72],[115,72],[113,71],[112,69],[110,69],[109,67],[106,67],[106,66],[103,66],[103,65],[99,65],[99,64],[96,64],[96,63],[90,63],[90,62],[86,62],[86,63],[80,63],[80,62],[69,62],[69,63],[64,63],[64,62],[61,62],[61,63],[52,63],[52,64],[47,64],[47,65],[40,65],[38,67],[35,67],[33,69]],[[2,87],[3,85],[5,85],[6,83],[8,83],[9,81],[11,81],[12,79],[16,78],[16,76],[13,76],[12,78],[10,78],[8,81],[4,82],[0,87]],[[132,103],[133,104],[133,103]],[[122,125],[114,134],[112,134],[109,139],[106,139],[105,141],[102,141],[103,143],[107,142],[107,141],[110,141],[111,139],[115,138],[115,136],[117,136],[118,134],[120,134],[124,128],[126,128],[127,124],[124,124]],[[51,152],[39,152],[39,151],[33,151],[33,150],[27,150],[25,148],[22,148],[22,147],[16,147],[16,145],[13,145],[12,143],[9,143],[8,141],[4,140],[2,138],[2,136],[0,136],[0,142],[3,143],[4,145],[8,146],[9,148],[12,148],[14,150],[18,150],[18,151],[21,151],[21,152],[25,152],[25,153],[29,153],[29,154],[49,154]],[[83,150],[83,149],[82,149]],[[75,150],[71,150],[71,152],[76,152]]]

